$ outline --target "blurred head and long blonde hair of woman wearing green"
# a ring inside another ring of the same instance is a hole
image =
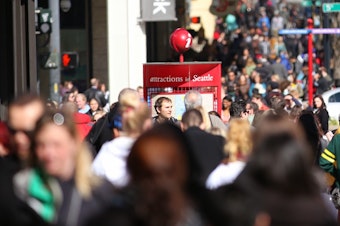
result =
[[[69,111],[52,110],[37,122],[33,164],[61,181],[75,180],[83,197],[89,197],[97,178],[91,172],[92,155]]]

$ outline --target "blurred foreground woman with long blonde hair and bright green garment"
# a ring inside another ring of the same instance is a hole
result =
[[[38,121],[31,159],[14,177],[15,193],[46,222],[84,225],[106,208],[112,187],[91,173],[92,155],[70,113],[53,110]]]

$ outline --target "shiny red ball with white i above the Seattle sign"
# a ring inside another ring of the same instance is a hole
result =
[[[192,44],[191,34],[184,28],[177,28],[170,35],[170,45],[178,53],[188,51]]]

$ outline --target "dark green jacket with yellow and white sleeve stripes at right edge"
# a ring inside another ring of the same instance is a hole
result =
[[[330,173],[335,178],[335,184],[340,187],[340,134],[336,134],[327,148],[323,150],[319,165],[320,167]]]

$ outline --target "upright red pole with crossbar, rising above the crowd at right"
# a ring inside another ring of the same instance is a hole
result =
[[[308,29],[313,29],[313,19],[307,19]],[[313,34],[308,34],[308,103],[313,106]]]

